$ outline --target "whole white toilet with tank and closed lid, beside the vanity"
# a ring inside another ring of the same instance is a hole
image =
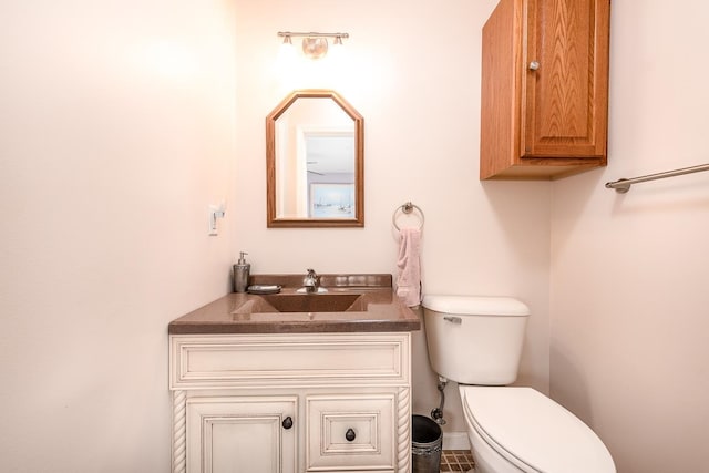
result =
[[[615,473],[600,439],[517,378],[530,309],[508,297],[423,298],[429,360],[459,383],[475,473]]]

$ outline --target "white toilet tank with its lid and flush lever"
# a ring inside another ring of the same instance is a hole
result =
[[[423,297],[433,370],[461,384],[504,385],[517,379],[530,309],[511,297]]]

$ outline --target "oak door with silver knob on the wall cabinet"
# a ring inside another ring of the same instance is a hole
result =
[[[522,157],[605,164],[609,9],[609,0],[526,1]]]

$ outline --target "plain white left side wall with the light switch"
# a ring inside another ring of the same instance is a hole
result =
[[[0,470],[166,472],[167,323],[235,253],[233,7],[0,18]]]

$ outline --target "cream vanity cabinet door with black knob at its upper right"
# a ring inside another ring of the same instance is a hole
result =
[[[186,411],[188,473],[297,471],[296,397],[192,398]]]

